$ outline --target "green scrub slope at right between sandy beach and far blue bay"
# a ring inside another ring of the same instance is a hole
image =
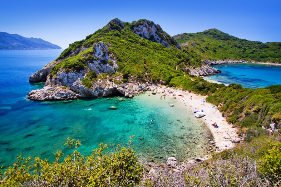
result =
[[[249,89],[240,84],[229,84],[215,91],[206,101],[219,105],[219,111],[229,123],[240,128],[266,127],[279,122],[281,85]]]

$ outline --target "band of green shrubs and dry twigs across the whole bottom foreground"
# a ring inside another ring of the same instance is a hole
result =
[[[107,146],[101,143],[90,156],[83,156],[77,150],[81,141],[67,138],[65,145],[73,152],[64,159],[60,150],[55,153],[56,158],[52,163],[36,157],[34,164],[31,164],[31,157],[24,160],[17,156],[17,162],[13,166],[0,171],[0,185],[250,187],[277,186],[281,181],[279,134],[270,138],[271,143],[260,145],[246,156],[235,153],[239,150],[245,153],[245,146],[237,147],[235,150],[215,154],[214,158],[181,172],[172,172],[172,168],[166,164],[152,166],[143,156],[137,158],[131,148],[131,140],[128,148],[118,145],[116,150],[109,154],[104,153]],[[254,156],[255,153],[258,153],[258,159]]]

